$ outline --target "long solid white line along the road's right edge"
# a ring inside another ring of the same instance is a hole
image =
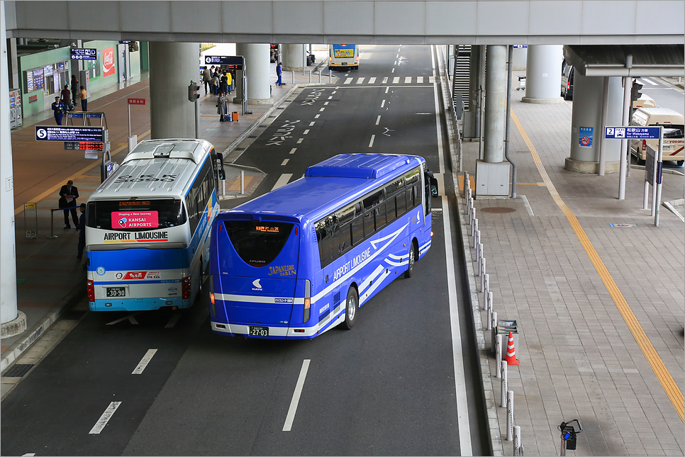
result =
[[[435,46],[430,46],[430,60],[433,64],[433,74],[435,74],[434,60]],[[434,77],[433,77],[434,78]],[[440,130],[440,115],[438,108],[438,85],[435,84],[433,96],[435,96],[435,112],[438,113],[438,157],[440,157],[440,167],[445,167],[442,153],[442,131]],[[444,187],[443,187],[444,188]],[[455,364],[455,393],[457,395],[457,428],[459,429],[459,444],[462,456],[472,456],[473,448],[471,444],[471,424],[469,420],[469,404],[467,402],[466,382],[464,380],[464,359],[462,358],[462,332],[459,325],[459,304],[457,303],[457,280],[455,273],[454,251],[452,251],[452,228],[450,227],[450,202],[447,196],[442,196],[442,228],[445,235],[445,259],[447,261],[447,291],[450,298],[450,327],[452,328],[452,356]]]

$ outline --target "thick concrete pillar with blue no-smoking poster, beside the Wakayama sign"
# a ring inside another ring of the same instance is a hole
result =
[[[573,83],[573,112],[571,115],[571,157],[565,169],[581,173],[598,173],[599,149],[603,132],[602,101],[603,77],[584,77],[576,72]],[[606,125],[621,125],[623,115],[623,87],[620,77],[610,77],[608,84]],[[591,145],[581,143],[581,137],[590,137]],[[618,172],[620,141],[604,142],[606,173]]]

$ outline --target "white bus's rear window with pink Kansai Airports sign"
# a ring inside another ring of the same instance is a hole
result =
[[[90,202],[86,215],[88,227],[103,230],[139,232],[168,228],[186,222],[180,200],[101,200]]]

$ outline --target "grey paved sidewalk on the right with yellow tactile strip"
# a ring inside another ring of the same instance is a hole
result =
[[[618,174],[564,170],[572,103],[521,97],[513,91],[518,198],[474,208],[493,310],[518,324],[520,366],[508,366],[508,390],[525,455],[559,455],[557,426],[580,419],[569,455],[682,456],[683,220],[662,207],[655,227],[642,210],[644,167],[633,167],[623,201]],[[473,178],[478,143],[463,145]],[[672,171],[662,201],[681,208],[683,169]],[[458,201],[494,452],[511,456],[467,202]]]

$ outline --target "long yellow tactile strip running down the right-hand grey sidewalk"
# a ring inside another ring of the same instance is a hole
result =
[[[573,231],[576,233],[581,245],[585,249],[585,252],[592,262],[592,265],[599,274],[599,277],[604,283],[606,290],[608,290],[609,295],[611,295],[613,303],[616,304],[618,312],[620,312],[621,317],[623,317],[625,324],[628,325],[630,333],[633,334],[635,342],[637,342],[637,345],[640,346],[640,350],[642,351],[642,354],[645,355],[647,362],[650,363],[652,371],[654,371],[659,383],[661,383],[662,388],[664,389],[664,392],[669,397],[669,400],[671,400],[671,403],[680,416],[681,421],[685,422],[685,397],[682,391],[676,384],[671,373],[668,371],[668,368],[666,368],[664,361],[662,361],[661,357],[659,357],[659,354],[657,354],[657,350],[650,341],[649,337],[647,337],[645,330],[642,329],[642,325],[640,325],[637,317],[635,317],[635,313],[633,313],[630,305],[628,305],[628,302],[623,297],[623,294],[620,293],[620,289],[618,288],[616,281],[613,281],[611,273],[609,273],[608,269],[601,261],[599,254],[590,242],[590,239],[587,237],[583,227],[581,227],[580,222],[578,222],[576,216],[572,213],[566,203],[564,203],[562,198],[559,196],[559,193],[557,193],[557,189],[555,188],[554,184],[552,184],[550,176],[547,175],[545,167],[542,166],[542,161],[540,160],[538,151],[535,149],[535,146],[533,146],[533,142],[530,141],[530,138],[526,134],[525,130],[523,130],[523,125],[521,125],[521,123],[518,121],[518,117],[516,114],[514,114],[513,110],[511,110],[511,119],[516,124],[516,128],[518,128],[518,131],[523,137],[523,141],[528,146],[530,154],[533,155],[535,166],[538,167],[538,172],[542,177],[542,181],[545,181],[545,185],[547,186],[547,190],[550,191],[552,199],[555,201],[555,203],[557,203],[559,209],[562,210],[562,213],[564,213],[566,218],[569,220]]]

